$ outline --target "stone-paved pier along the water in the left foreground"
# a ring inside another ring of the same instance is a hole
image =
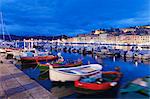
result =
[[[0,55],[0,99],[57,99]]]

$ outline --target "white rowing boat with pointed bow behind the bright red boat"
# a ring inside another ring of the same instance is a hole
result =
[[[51,81],[76,81],[82,76],[92,75],[102,70],[99,64],[82,65],[70,68],[53,68],[49,66],[49,77]]]

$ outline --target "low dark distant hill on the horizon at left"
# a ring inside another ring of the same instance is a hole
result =
[[[12,40],[23,40],[23,39],[42,39],[42,40],[56,40],[56,39],[67,39],[68,36],[66,35],[60,35],[60,36],[16,36],[16,35],[4,35],[5,36],[5,40],[10,40],[10,37]],[[3,38],[3,35],[0,35],[0,39]]]

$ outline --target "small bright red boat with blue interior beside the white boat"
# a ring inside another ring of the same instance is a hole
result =
[[[106,71],[86,78],[81,78],[74,82],[78,89],[106,91],[117,85],[121,78],[121,73],[116,71]]]

